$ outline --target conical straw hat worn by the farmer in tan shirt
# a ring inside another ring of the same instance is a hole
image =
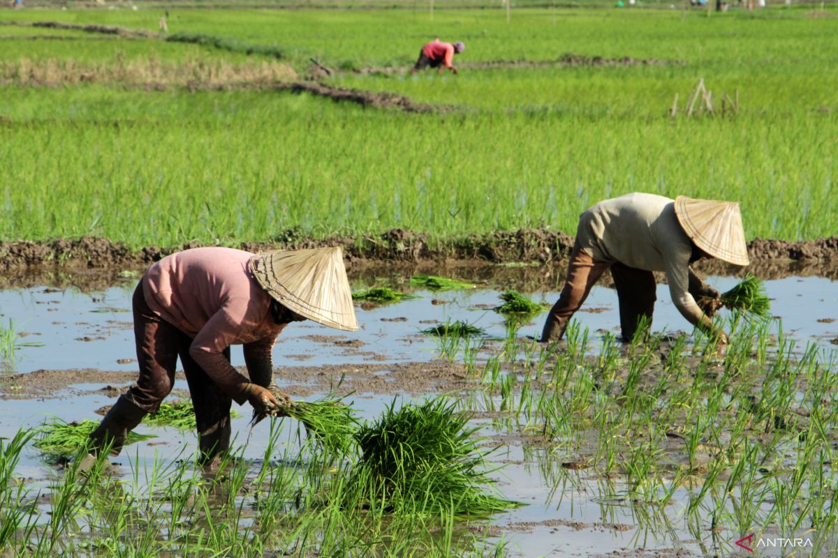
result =
[[[675,198],[675,215],[686,235],[706,253],[731,264],[750,263],[737,202],[679,196]]]

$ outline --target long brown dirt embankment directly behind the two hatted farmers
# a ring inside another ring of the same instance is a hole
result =
[[[335,237],[305,238],[295,231],[284,233],[281,240],[271,243],[241,243],[239,248],[261,252],[278,248],[343,248],[350,269],[375,269],[376,263],[387,269],[401,264],[415,269],[424,262],[437,269],[445,262],[458,265],[475,264],[551,264],[561,265],[573,247],[573,237],[548,229],[522,229],[515,232],[473,234],[431,242],[426,234],[392,229],[380,235],[361,238]],[[197,248],[199,243],[132,250],[106,238],[83,237],[74,240],[58,239],[47,242],[0,243],[0,271],[6,277],[30,272],[60,274],[68,267],[84,269],[142,269],[168,253]],[[838,238],[820,238],[805,242],[788,242],[756,238],[748,243],[753,264],[749,269],[763,279],[788,275],[820,275],[838,278]],[[720,261],[701,262],[705,273],[737,274],[741,268]],[[527,273],[523,271],[514,273]],[[529,268],[534,275],[545,274],[537,265]],[[392,274],[392,271],[385,274]],[[75,274],[74,275],[78,275]],[[112,279],[112,278],[111,278]]]

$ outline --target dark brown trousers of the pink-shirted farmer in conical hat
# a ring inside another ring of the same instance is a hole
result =
[[[230,445],[232,400],[189,356],[192,338],[153,313],[142,292],[142,281],[134,290],[132,307],[140,376],[128,390],[127,397],[137,407],[157,412],[160,403],[172,391],[179,356],[198,422],[201,453],[204,458],[211,458],[215,453],[226,450]],[[230,361],[230,347],[224,355]]]

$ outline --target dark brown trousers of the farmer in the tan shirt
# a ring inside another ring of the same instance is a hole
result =
[[[558,301],[547,315],[542,341],[560,340],[567,328],[567,322],[587,299],[597,279],[611,269],[620,308],[620,328],[623,340],[631,340],[641,317],[652,321],[655,295],[654,274],[645,269],[630,268],[620,263],[597,262],[582,251],[579,243],[573,245],[571,258],[567,263],[567,280]]]

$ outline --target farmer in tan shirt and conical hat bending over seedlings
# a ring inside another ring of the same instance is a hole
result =
[[[591,207],[579,218],[567,281],[553,305],[541,341],[559,340],[593,284],[611,269],[617,289],[623,340],[631,340],[640,318],[652,318],[653,271],[666,274],[670,296],[680,314],[720,343],[711,315],[721,306],[719,294],[693,273],[697,259],[716,257],[747,265],[742,217],[735,202],[680,196],[675,200],[632,193]]]

